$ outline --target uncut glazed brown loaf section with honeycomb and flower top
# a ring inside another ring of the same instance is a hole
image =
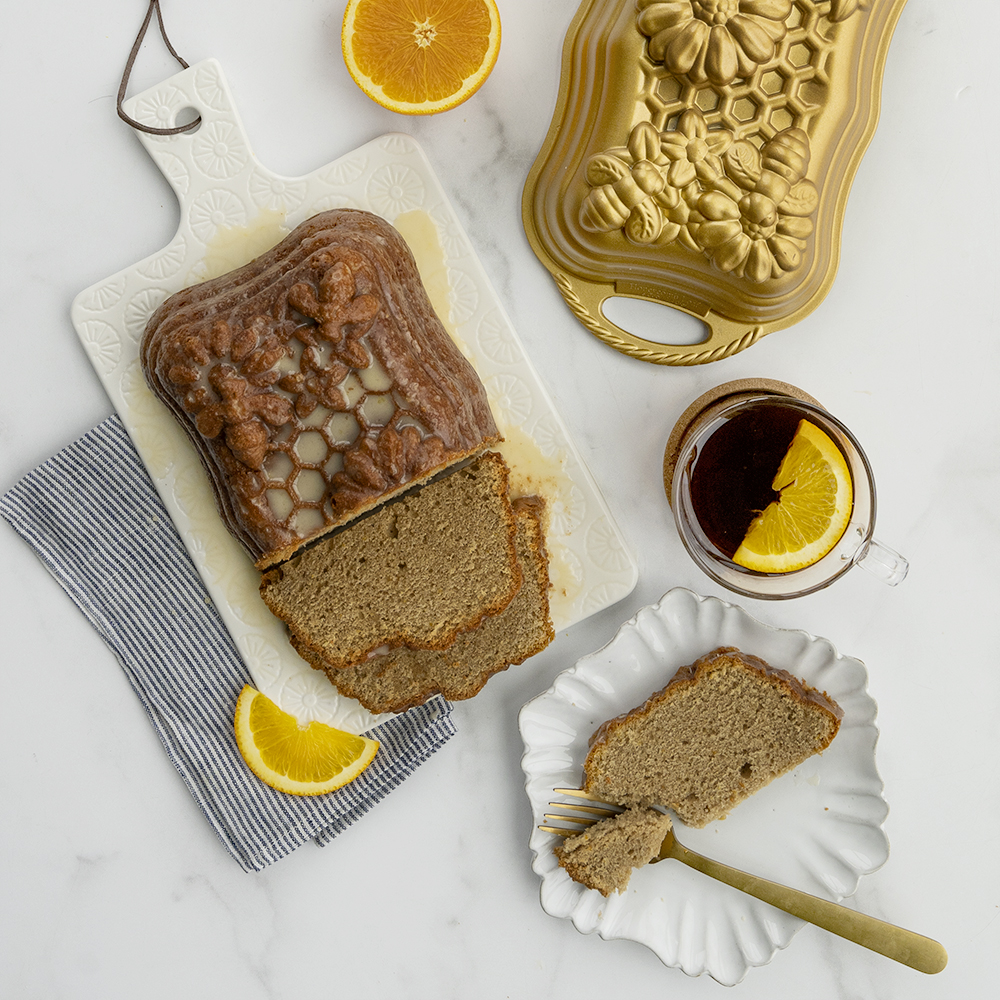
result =
[[[409,248],[369,212],[313,216],[170,296],[141,358],[260,568],[500,440]]]

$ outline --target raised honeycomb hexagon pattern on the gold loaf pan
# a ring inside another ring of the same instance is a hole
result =
[[[787,34],[774,58],[745,79],[725,86],[695,84],[653,63],[644,50],[640,60],[643,87],[639,99],[660,131],[674,127],[686,108],[699,108],[709,128],[724,127],[736,139],[757,146],[789,128],[809,131],[812,118],[827,100],[828,61],[839,25],[829,20],[830,3],[795,0],[786,20]]]

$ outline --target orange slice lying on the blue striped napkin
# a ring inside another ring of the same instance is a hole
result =
[[[372,762],[378,740],[322,722],[302,725],[248,684],[236,701],[236,745],[254,774],[290,795],[325,795]]]

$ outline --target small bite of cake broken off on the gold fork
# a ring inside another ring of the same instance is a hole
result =
[[[626,809],[567,837],[555,853],[571,879],[610,896],[625,891],[633,868],[660,853],[670,827],[670,817],[656,809]]]

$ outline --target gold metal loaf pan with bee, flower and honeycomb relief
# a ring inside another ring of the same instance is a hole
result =
[[[819,305],[904,2],[584,0],[522,214],[588,330],[695,365]],[[612,296],[680,309],[708,338],[637,337],[604,315]]]

